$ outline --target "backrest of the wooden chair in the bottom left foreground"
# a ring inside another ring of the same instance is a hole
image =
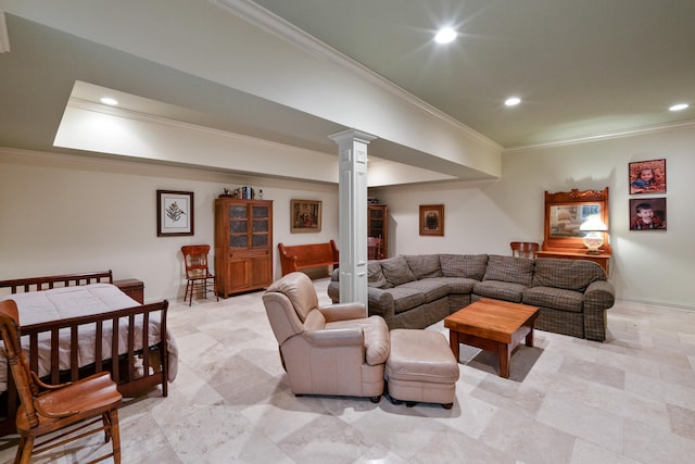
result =
[[[0,301],[0,336],[27,421],[29,426],[36,427],[39,425],[39,418],[34,407],[34,397],[39,393],[39,388],[34,381],[29,363],[20,344],[20,314],[13,300]]]

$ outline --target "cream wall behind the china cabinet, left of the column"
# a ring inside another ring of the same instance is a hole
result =
[[[143,280],[147,301],[182,298],[180,247],[212,246],[214,199],[242,185],[274,200],[275,243],[338,241],[336,185],[0,149],[0,279],[111,268]],[[194,236],[156,236],[157,189],[194,193]],[[320,233],[290,233],[291,199],[323,201]],[[277,278],[277,246],[274,260]]]

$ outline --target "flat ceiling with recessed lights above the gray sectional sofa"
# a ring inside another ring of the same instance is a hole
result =
[[[695,120],[692,0],[255,2],[506,148]]]

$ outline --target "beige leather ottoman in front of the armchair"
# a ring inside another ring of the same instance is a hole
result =
[[[384,378],[393,404],[440,403],[450,410],[456,397],[458,362],[446,337],[433,330],[393,329]]]

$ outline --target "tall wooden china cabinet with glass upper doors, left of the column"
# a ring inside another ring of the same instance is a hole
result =
[[[215,275],[223,298],[273,283],[273,201],[215,200]]]

